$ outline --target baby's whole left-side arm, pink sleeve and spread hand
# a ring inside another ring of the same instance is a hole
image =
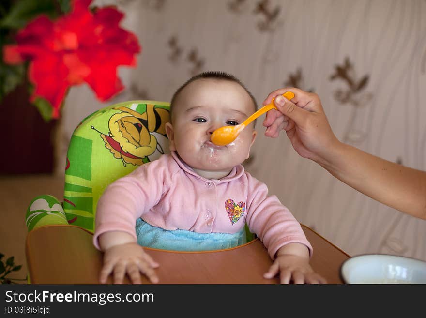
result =
[[[157,203],[164,190],[163,182],[170,175],[160,161],[144,164],[113,182],[98,201],[93,243],[105,252],[101,283],[110,273],[114,283],[122,283],[126,273],[132,283],[140,283],[140,273],[152,283],[158,281],[153,271],[158,264],[137,244],[135,224]]]

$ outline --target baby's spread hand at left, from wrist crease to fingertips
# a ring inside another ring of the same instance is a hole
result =
[[[133,284],[141,284],[140,273],[144,273],[155,284],[158,283],[158,277],[153,269],[158,266],[136,242],[114,245],[105,251],[99,281],[105,284],[108,275],[113,273],[114,284],[122,284],[127,273]]]

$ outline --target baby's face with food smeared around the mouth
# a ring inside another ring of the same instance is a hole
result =
[[[242,123],[254,111],[252,99],[238,83],[214,78],[195,80],[178,95],[172,123],[166,124],[170,150],[177,151],[199,175],[220,179],[248,158],[256,132],[250,123],[226,146],[214,145],[210,136],[219,127]]]

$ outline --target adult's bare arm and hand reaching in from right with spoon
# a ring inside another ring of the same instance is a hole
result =
[[[278,96],[292,91],[289,101]],[[278,136],[284,129],[293,148],[304,158],[324,167],[355,190],[396,210],[426,219],[426,172],[405,167],[340,142],[334,135],[320,98],[295,88],[271,92],[278,110],[267,113],[265,135]]]

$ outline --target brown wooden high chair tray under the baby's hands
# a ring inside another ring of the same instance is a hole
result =
[[[350,256],[302,225],[314,254],[311,266],[330,284],[342,284],[339,269]],[[272,260],[259,239],[236,248],[209,252],[171,252],[146,248],[155,261],[159,284],[277,284],[265,279]],[[70,225],[38,227],[27,236],[26,254],[33,284],[98,284],[102,253],[92,234]],[[109,277],[108,283],[112,279]],[[142,282],[149,281],[142,276]],[[126,278],[125,283],[130,283]]]

